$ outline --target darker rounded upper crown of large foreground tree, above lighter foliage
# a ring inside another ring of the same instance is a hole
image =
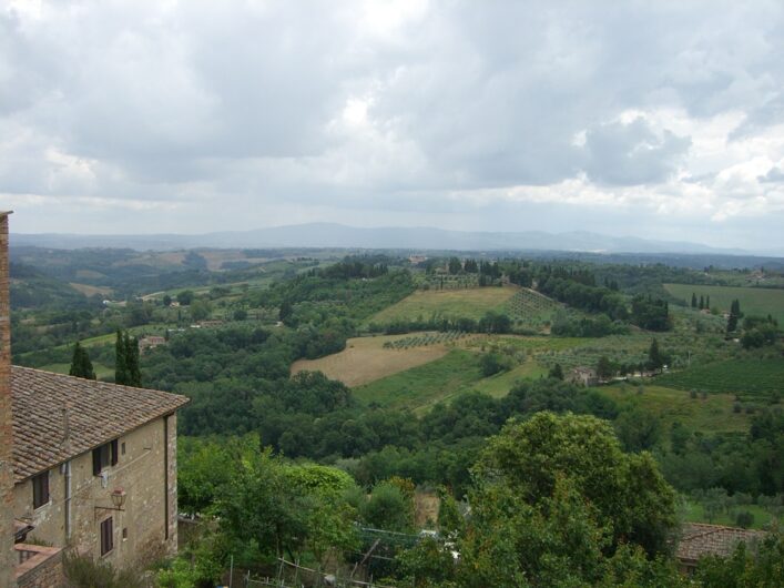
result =
[[[675,493],[651,455],[623,453],[610,425],[593,416],[543,412],[512,422],[488,440],[475,475],[501,481],[531,506],[558,497],[564,483],[564,499],[579,493],[612,534],[607,554],[623,541],[665,552],[676,525]]]

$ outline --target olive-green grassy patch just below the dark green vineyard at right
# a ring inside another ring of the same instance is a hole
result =
[[[658,384],[658,382],[656,382]],[[711,394],[705,398],[692,398],[689,392],[660,385],[613,384],[598,388],[619,404],[619,407],[640,407],[659,417],[665,430],[680,422],[691,430],[710,433],[745,433],[751,416],[733,410],[732,394]]]

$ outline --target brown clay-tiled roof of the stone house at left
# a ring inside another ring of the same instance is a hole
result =
[[[12,366],[14,481],[171,414],[190,401],[170,394]],[[68,417],[65,417],[68,415]],[[69,439],[65,439],[68,422]]]

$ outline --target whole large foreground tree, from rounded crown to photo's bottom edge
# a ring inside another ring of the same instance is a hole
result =
[[[669,549],[675,494],[605,422],[547,412],[511,422],[488,440],[474,480],[457,586],[681,585],[653,559]]]

